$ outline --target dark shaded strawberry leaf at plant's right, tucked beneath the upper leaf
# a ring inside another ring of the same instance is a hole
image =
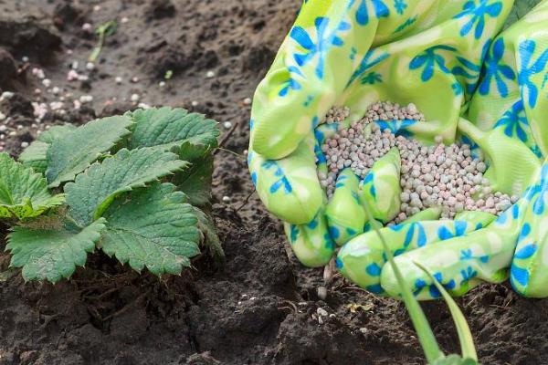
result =
[[[173,183],[188,195],[190,203],[205,206],[211,200],[213,180],[213,154],[211,148],[185,142],[179,149],[179,159],[191,163],[181,172],[176,172]]]

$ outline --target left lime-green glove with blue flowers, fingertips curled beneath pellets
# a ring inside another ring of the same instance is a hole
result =
[[[423,142],[437,135],[455,141],[483,58],[511,5],[511,0],[302,5],[255,93],[248,165],[259,197],[285,222],[291,247],[304,265],[325,265],[335,244],[371,225],[364,218],[364,202],[382,223],[393,218],[399,204],[395,155],[377,162],[373,170],[378,173],[358,182],[357,190],[356,178],[343,175],[348,179],[337,183],[328,203],[317,177],[327,171],[321,143],[384,99],[413,102],[427,116],[427,122],[398,120],[385,128],[404,129]],[[333,106],[350,110],[341,126],[324,123]]]

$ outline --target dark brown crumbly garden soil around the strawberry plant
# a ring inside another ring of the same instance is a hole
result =
[[[300,266],[281,224],[252,194],[244,99],[264,76],[298,3],[0,0],[0,89],[15,92],[0,102],[6,116],[0,150],[16,155],[47,126],[136,108],[130,99],[138,94],[148,105],[237,123],[225,148],[240,154],[216,154],[214,213],[225,266],[202,255],[182,276],[158,279],[94,254],[70,280],[51,285],[25,283],[8,269],[8,255],[0,255],[0,365],[425,362],[401,303],[374,297],[340,276],[320,300],[322,269]],[[117,32],[107,37],[95,68],[86,70],[96,40],[82,26],[113,18]],[[73,61],[88,80],[68,81]],[[33,68],[44,71],[50,88]],[[173,76],[163,80],[168,70]],[[213,78],[206,76],[210,70]],[[53,87],[58,95],[47,90]],[[74,108],[72,99],[82,95],[93,100]],[[49,103],[61,96],[63,107],[52,110]],[[47,104],[41,120],[32,102]],[[2,246],[5,231],[0,226]],[[458,303],[482,363],[548,363],[547,300],[524,299],[500,285],[478,287]],[[322,323],[317,308],[329,313]],[[443,349],[458,351],[445,305],[423,308]]]

